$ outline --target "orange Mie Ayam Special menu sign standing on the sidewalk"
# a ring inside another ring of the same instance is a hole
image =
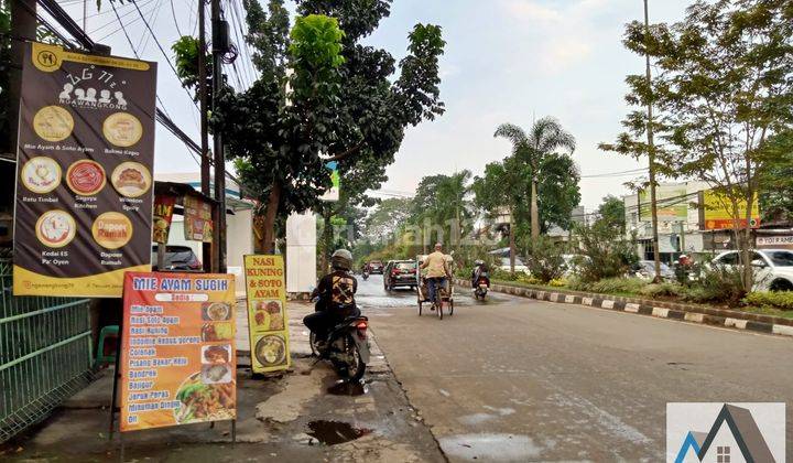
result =
[[[235,277],[129,272],[121,431],[237,417]]]

